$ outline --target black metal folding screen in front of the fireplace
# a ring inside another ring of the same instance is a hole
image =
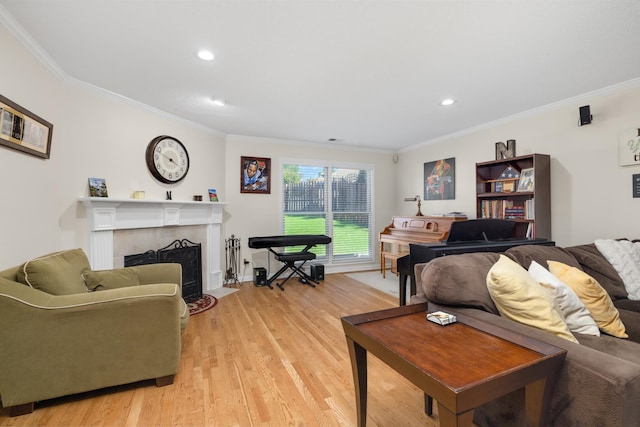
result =
[[[159,262],[182,266],[182,299],[192,302],[202,297],[202,245],[191,240],[174,240],[157,251],[125,255],[124,266],[133,267]]]

